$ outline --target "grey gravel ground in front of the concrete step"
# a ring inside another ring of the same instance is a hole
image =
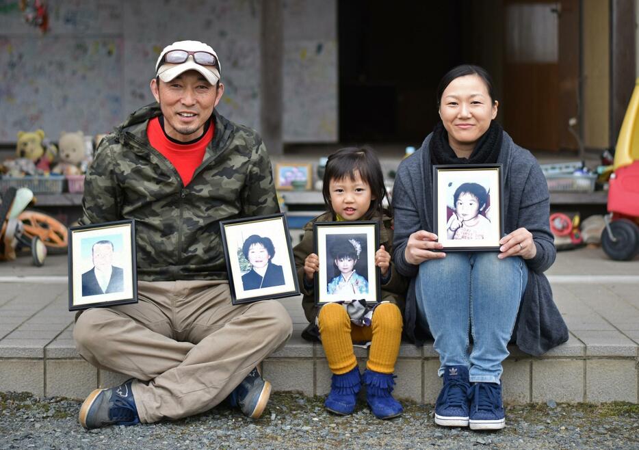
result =
[[[0,393],[0,449],[639,449],[639,405],[531,404],[506,411],[501,432],[437,427],[433,408],[379,421],[358,404],[352,416],[324,411],[323,399],[274,393],[261,419],[218,406],[180,421],[86,432],[80,401]]]

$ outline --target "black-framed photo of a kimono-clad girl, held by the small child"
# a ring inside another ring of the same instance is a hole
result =
[[[378,222],[315,222],[313,235],[320,259],[315,304],[349,300],[376,303],[380,297],[380,274],[375,265]]]

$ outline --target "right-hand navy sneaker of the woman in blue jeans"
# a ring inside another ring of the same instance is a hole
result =
[[[501,384],[475,383],[469,391],[471,429],[502,429],[506,426]]]

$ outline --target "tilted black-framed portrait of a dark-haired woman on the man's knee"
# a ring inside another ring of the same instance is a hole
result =
[[[300,295],[283,213],[220,222],[233,304]]]

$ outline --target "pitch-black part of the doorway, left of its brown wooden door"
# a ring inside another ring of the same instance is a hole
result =
[[[438,119],[436,85],[471,55],[470,1],[339,1],[342,142],[419,143]]]

